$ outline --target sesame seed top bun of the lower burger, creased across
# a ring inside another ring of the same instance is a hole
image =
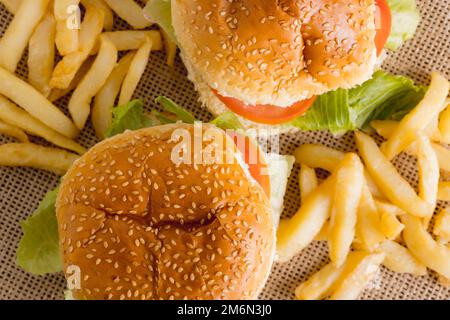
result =
[[[105,140],[67,172],[56,212],[75,299],[258,296],[275,253],[269,200],[225,132],[200,132],[204,152],[213,135],[234,160],[176,164],[194,126],[173,124]]]

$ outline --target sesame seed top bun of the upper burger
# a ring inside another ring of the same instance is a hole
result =
[[[287,107],[369,79],[374,0],[174,0],[184,61],[220,94]]]

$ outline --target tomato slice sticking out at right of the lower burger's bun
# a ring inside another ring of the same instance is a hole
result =
[[[260,148],[245,135],[237,132],[228,132],[228,135],[233,139],[238,150],[244,156],[244,161],[248,165],[251,176],[263,188],[267,197],[270,198],[270,177],[267,174],[267,163]],[[257,152],[257,154],[252,154],[252,152]]]

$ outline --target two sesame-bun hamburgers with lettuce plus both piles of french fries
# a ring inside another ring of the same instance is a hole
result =
[[[358,299],[380,272],[450,281],[448,74],[381,69],[414,0],[0,3],[0,166],[59,179],[16,263],[64,274],[66,299],[257,299],[316,242],[297,299]],[[162,50],[210,118],[141,89],[167,80],[147,77]],[[270,145],[301,131],[293,155]]]

